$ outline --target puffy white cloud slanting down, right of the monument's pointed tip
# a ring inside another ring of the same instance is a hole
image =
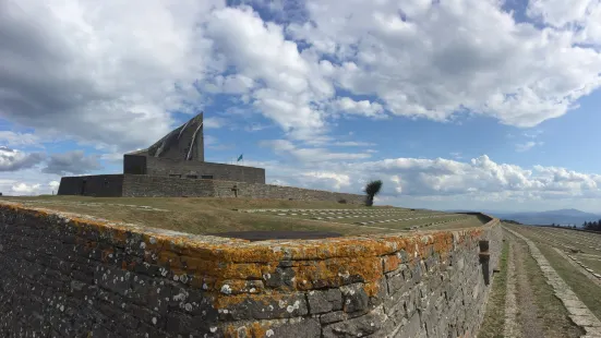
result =
[[[285,38],[281,26],[264,23],[249,7],[228,8],[213,13],[207,34],[226,65],[249,79],[251,104],[264,116],[291,137],[324,129],[323,112],[313,102],[332,96],[334,87]]]

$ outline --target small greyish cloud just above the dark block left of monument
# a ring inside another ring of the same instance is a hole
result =
[[[103,169],[96,156],[85,156],[82,150],[74,150],[64,154],[53,154],[50,156],[45,173],[56,174],[82,174],[94,170]]]

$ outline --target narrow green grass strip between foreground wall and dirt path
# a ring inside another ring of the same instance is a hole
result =
[[[494,276],[486,314],[480,327],[478,338],[502,338],[505,323],[505,298],[507,293],[507,256],[509,243],[503,243],[500,271]]]

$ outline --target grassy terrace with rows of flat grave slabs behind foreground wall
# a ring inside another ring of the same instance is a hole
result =
[[[369,234],[411,229],[476,227],[485,219],[462,214],[336,202],[192,197],[3,196],[59,212],[89,215],[189,233],[248,230],[330,231]]]

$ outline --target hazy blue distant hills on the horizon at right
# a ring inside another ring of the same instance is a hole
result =
[[[453,210],[453,213],[465,213],[466,210]],[[510,212],[486,212],[489,215],[502,219],[513,219],[524,225],[576,225],[581,226],[585,221],[601,219],[601,215],[586,213],[578,209],[558,209],[549,212],[528,212],[528,213],[510,213]]]

